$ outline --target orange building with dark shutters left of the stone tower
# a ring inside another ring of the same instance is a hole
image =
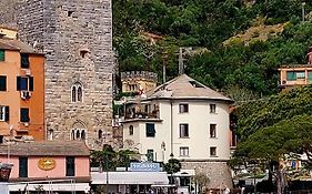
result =
[[[44,55],[0,33],[0,143],[44,134]]]

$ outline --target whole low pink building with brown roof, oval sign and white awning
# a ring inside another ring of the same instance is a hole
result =
[[[85,193],[90,183],[90,152],[81,141],[42,141],[0,145],[0,162],[12,163],[10,192]]]

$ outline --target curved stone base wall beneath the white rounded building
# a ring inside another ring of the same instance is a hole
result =
[[[222,161],[181,162],[182,169],[195,170],[209,177],[208,188],[220,190],[228,186],[232,188],[232,176],[230,166]]]

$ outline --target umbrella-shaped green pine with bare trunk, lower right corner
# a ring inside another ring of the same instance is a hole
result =
[[[283,193],[286,181],[279,161],[301,152],[308,155],[308,163],[312,164],[312,115],[294,116],[254,132],[239,144],[236,156],[258,161],[269,170],[272,170],[270,164],[275,161],[276,187],[280,194]]]

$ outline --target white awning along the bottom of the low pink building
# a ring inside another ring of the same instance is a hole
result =
[[[54,192],[71,192],[71,191],[90,191],[89,183],[9,183],[10,192],[19,191],[54,191]]]

